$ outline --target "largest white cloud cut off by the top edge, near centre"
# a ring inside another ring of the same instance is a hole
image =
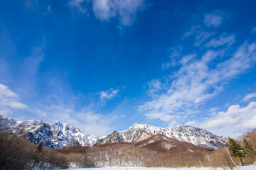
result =
[[[130,26],[142,9],[144,0],[93,0],[92,4],[95,16],[101,21],[117,17],[123,26]]]

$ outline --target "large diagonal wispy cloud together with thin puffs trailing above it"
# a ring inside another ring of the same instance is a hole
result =
[[[213,26],[214,29],[220,26],[222,16],[216,15],[206,14],[206,26]],[[198,113],[198,106],[223,91],[224,85],[231,79],[255,65],[255,43],[244,42],[240,47],[233,45],[235,35],[218,35],[218,31],[211,29],[209,32],[206,26],[192,26],[183,35],[182,40],[192,38],[195,47],[190,53],[185,54],[185,50],[179,52],[176,60],[178,70],[164,79],[151,80],[149,83],[149,94],[153,98],[138,107],[138,111],[143,112],[146,118],[184,123],[184,120]],[[162,67],[166,69],[169,64]]]

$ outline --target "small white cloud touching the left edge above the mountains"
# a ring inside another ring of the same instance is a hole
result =
[[[23,108],[28,108],[28,106],[18,101],[18,94],[11,91],[8,86],[0,84],[0,113],[2,115],[8,115],[14,109]]]

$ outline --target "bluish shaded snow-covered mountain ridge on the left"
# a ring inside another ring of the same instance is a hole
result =
[[[92,146],[99,137],[82,133],[67,123],[55,121],[53,124],[41,120],[15,121],[0,115],[1,130],[43,146],[58,149],[68,145]]]

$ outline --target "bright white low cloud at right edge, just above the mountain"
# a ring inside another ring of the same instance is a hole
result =
[[[190,122],[187,124],[198,125],[217,135],[225,137],[238,137],[243,132],[256,128],[256,102],[250,102],[248,106],[232,105],[226,112],[206,118],[202,122]]]

